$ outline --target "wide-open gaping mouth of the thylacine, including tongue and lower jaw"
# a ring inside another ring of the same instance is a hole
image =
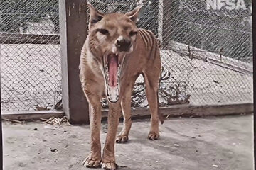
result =
[[[103,58],[107,99],[111,103],[116,103],[119,100],[120,74],[123,60],[124,55],[112,52]]]

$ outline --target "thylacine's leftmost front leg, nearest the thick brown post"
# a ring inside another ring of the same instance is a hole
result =
[[[83,164],[86,167],[97,168],[100,167],[102,161],[100,146],[100,128],[102,118],[100,96],[91,94],[86,90],[85,94],[90,103],[91,152]]]

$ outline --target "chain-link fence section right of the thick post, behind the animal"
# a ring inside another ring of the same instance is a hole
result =
[[[220,8],[203,0],[90,1],[105,13],[143,6],[137,26],[161,42],[162,106],[252,102],[252,2],[240,2]],[[142,82],[134,106],[147,106]]]

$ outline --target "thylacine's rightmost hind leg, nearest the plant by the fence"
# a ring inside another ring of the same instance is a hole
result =
[[[144,74],[144,79],[146,98],[151,113],[151,128],[148,138],[149,140],[157,140],[159,138],[159,101],[157,92],[159,87],[159,74]]]

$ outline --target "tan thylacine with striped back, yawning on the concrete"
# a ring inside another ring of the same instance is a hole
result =
[[[161,74],[159,47],[154,34],[138,29],[139,10],[107,13],[90,7],[89,34],[80,57],[80,81],[90,103],[91,152],[83,164],[87,167],[117,169],[114,142],[127,142],[131,120],[131,93],[134,82],[142,74],[151,113],[148,138],[159,138],[158,87]],[[102,97],[109,103],[108,132],[101,156],[100,124]],[[124,126],[116,138],[120,113]]]

